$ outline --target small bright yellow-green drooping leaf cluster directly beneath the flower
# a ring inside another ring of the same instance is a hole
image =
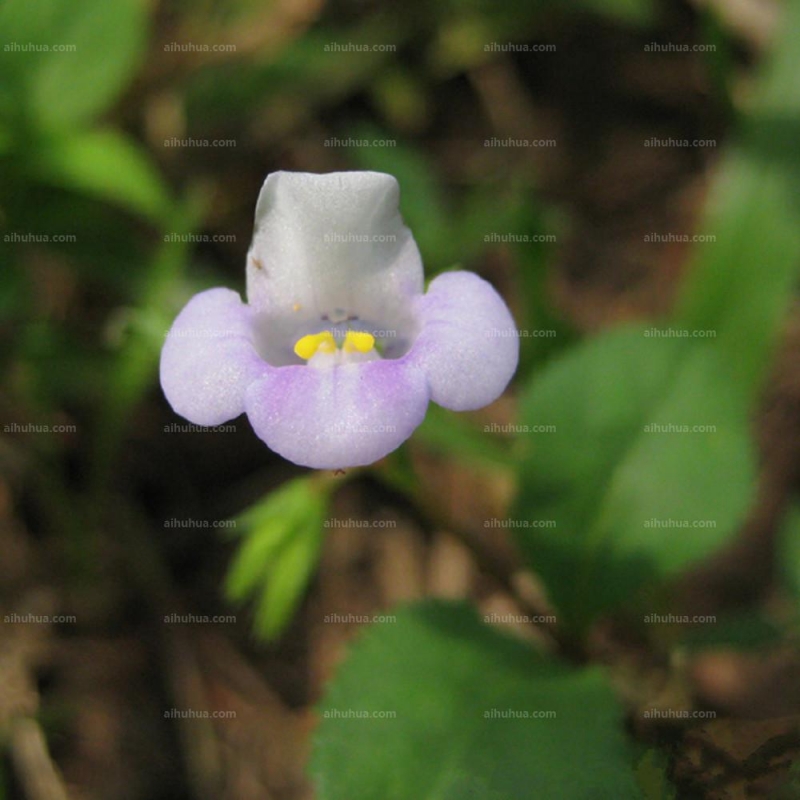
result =
[[[296,478],[239,518],[242,544],[225,593],[235,603],[258,595],[255,630],[265,639],[285,628],[316,567],[332,486]]]

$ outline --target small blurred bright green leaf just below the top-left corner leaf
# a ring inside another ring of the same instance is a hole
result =
[[[32,154],[33,174],[54,186],[115,203],[159,224],[170,212],[169,193],[148,156],[112,130],[52,138]]]

